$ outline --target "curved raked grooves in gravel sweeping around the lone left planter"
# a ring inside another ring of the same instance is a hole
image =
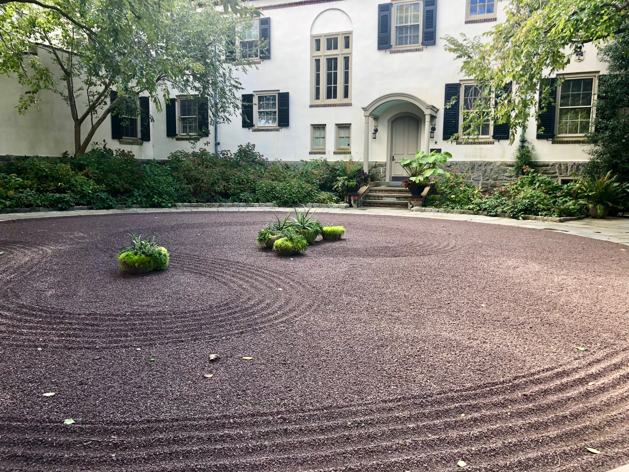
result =
[[[308,313],[295,298],[289,278],[264,269],[213,257],[177,254],[169,270],[186,271],[234,290],[233,300],[198,310],[86,313],[16,300],[0,302],[0,342],[8,347],[113,349],[168,342],[218,339],[270,329]],[[277,291],[281,285],[286,292]],[[40,342],[39,339],[45,339]]]

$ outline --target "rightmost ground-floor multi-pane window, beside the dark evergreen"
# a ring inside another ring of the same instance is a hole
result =
[[[584,135],[592,119],[594,78],[568,79],[559,89],[557,135]]]

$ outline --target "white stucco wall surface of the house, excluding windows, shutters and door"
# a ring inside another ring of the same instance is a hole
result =
[[[443,49],[443,40],[437,45],[425,47],[421,52],[391,54],[377,50],[377,5],[384,0],[340,0],[327,3],[305,4],[289,8],[265,9],[271,19],[271,59],[263,60],[257,67],[241,77],[242,93],[262,90],[279,90],[290,94],[290,126],[279,132],[252,132],[242,128],[240,116],[233,116],[230,124],[219,127],[220,149],[237,149],[238,144],[254,143],[265,157],[282,160],[299,160],[325,157],[342,159],[333,154],[335,125],[352,124],[352,156],[362,159],[364,154],[364,113],[362,107],[374,99],[389,93],[412,94],[427,104],[438,108],[437,131],[430,148],[440,148],[452,153],[456,160],[509,160],[516,145],[500,141],[493,145],[456,145],[442,140],[444,86],[467,77],[459,73],[460,64],[451,53]],[[255,6],[289,3],[289,0],[255,0]],[[498,3],[498,7],[502,3]],[[504,15],[498,12],[498,21]],[[438,0],[437,37],[443,35],[478,35],[495,22],[465,25],[463,0]],[[310,37],[312,33],[353,31],[352,47],[352,106],[309,108],[310,104]],[[605,72],[604,64],[596,59],[591,45],[584,49],[584,60],[569,65],[566,72]],[[69,110],[51,93],[42,93],[42,111],[29,111],[18,116],[14,105],[20,87],[13,79],[0,77],[0,155],[41,154],[60,155],[72,152],[72,120]],[[152,106],[153,108],[153,106]],[[211,108],[211,107],[210,107]],[[408,108],[408,107],[406,107]],[[387,120],[404,106],[395,106],[379,120],[376,140],[369,140],[369,160],[384,161],[389,157]],[[411,106],[412,108],[412,106]],[[190,149],[187,142],[175,141],[165,136],[165,115],[154,113],[152,140],[143,146],[120,145],[111,142],[109,120],[103,123],[94,140],[107,140],[110,146],[132,150],[137,157],[165,159],[177,149]],[[423,116],[419,115],[420,120]],[[325,124],[327,128],[326,155],[309,155],[310,126]],[[372,123],[369,126],[371,133]],[[36,137],[35,137],[36,135]],[[587,160],[586,147],[579,144],[552,144],[536,139],[533,120],[527,138],[535,146],[539,160],[579,161]],[[424,135],[422,133],[422,138]],[[213,136],[201,141],[213,142]],[[213,145],[208,145],[209,149]]]

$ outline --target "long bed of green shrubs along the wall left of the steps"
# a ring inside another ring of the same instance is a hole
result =
[[[168,208],[177,202],[274,202],[281,206],[339,203],[337,165],[326,160],[288,165],[269,161],[248,143],[236,152],[177,151],[140,162],[95,145],[86,154],[18,157],[0,166],[0,208],[114,205]]]

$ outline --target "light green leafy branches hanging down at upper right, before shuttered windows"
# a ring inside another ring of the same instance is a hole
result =
[[[447,36],[445,48],[463,60],[461,72],[481,89],[477,111],[467,115],[464,126],[474,129],[487,118],[509,123],[513,142],[540,111],[540,87],[542,111],[548,103],[550,87],[543,79],[565,69],[584,44],[606,42],[627,30],[629,1],[510,0],[505,11],[504,23],[480,37]]]

